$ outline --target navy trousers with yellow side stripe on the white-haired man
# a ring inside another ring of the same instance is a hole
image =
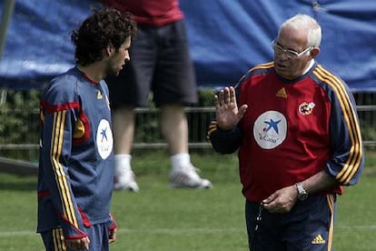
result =
[[[331,250],[336,196],[310,196],[298,201],[287,214],[262,210],[255,230],[259,204],[245,203],[248,242],[252,251]]]

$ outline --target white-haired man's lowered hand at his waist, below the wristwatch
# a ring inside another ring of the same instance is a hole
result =
[[[287,186],[262,200],[263,208],[273,214],[284,214],[292,210],[298,199],[296,186]]]

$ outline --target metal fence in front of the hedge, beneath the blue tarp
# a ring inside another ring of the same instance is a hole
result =
[[[369,100],[375,102],[372,104]],[[361,132],[366,147],[376,146],[376,94],[356,95],[358,115],[361,121]],[[367,105],[364,105],[367,104]],[[189,125],[189,147],[191,149],[210,148],[205,134],[215,111],[214,107],[187,107],[185,109]],[[5,114],[6,113],[6,114]],[[134,149],[160,149],[166,148],[161,130],[159,110],[155,108],[137,108],[136,126],[134,135]],[[25,117],[24,121],[17,122],[13,127],[13,133],[22,133],[14,142],[6,141],[6,135],[0,136],[0,157],[12,157],[37,162],[39,142],[39,118],[38,111],[25,112],[2,111],[0,120],[12,120],[15,117]],[[2,125],[0,121],[0,126]]]

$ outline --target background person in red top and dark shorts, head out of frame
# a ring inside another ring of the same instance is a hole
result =
[[[197,87],[179,1],[102,2],[132,13],[138,25],[130,49],[132,61],[119,76],[106,79],[114,116],[114,189],[139,190],[131,166],[134,107],[147,106],[151,92],[161,110],[162,133],[171,155],[170,187],[212,187],[197,174],[189,154],[184,105],[197,103]]]

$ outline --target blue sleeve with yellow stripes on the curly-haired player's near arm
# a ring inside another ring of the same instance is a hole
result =
[[[67,239],[86,236],[84,219],[76,204],[69,176],[72,138],[79,106],[73,95],[64,93],[61,87],[47,90],[41,102],[43,182],[54,206],[53,213],[57,215]]]

